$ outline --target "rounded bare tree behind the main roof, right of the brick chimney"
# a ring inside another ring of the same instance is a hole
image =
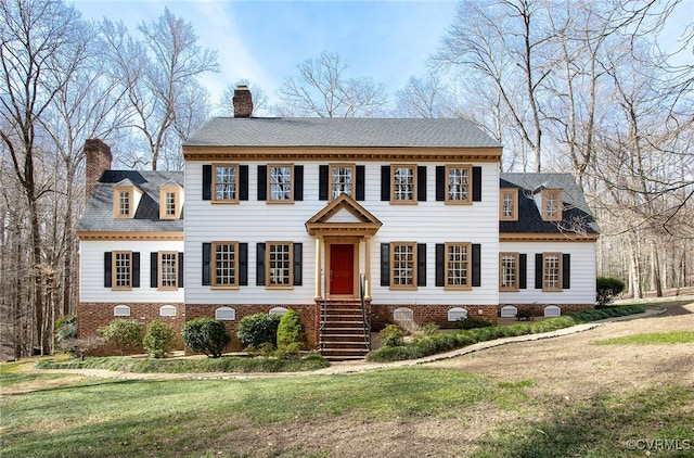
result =
[[[279,90],[278,112],[288,116],[373,116],[387,103],[384,86],[369,77],[347,77],[336,53],[322,52],[297,66]]]

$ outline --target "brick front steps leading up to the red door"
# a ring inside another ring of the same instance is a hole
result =
[[[364,359],[371,332],[359,301],[326,301],[321,310],[321,354],[331,361]]]

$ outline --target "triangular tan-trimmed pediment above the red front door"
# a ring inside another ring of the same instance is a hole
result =
[[[383,226],[357,201],[342,194],[306,221],[311,236],[361,236],[371,237]]]

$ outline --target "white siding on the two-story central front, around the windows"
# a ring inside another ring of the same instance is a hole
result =
[[[248,163],[248,201],[239,204],[213,204],[202,200],[203,163],[185,166],[185,302],[189,304],[305,304],[314,300],[316,242],[305,222],[327,201],[319,201],[319,165],[304,165],[304,201],[268,204],[257,201],[257,166]],[[371,288],[374,304],[386,303],[470,303],[498,304],[498,200],[499,173],[494,163],[483,167],[483,200],[472,205],[446,205],[436,201],[436,165],[427,164],[427,201],[416,205],[391,205],[381,201],[381,166],[365,165],[365,201],[359,202],[383,226],[371,240]],[[239,290],[211,290],[202,283],[202,244],[211,241],[248,243],[248,285]],[[286,290],[256,287],[256,243],[290,241],[304,244],[304,284]],[[380,287],[381,243],[411,241],[427,244],[427,287],[416,291],[390,291]],[[481,287],[473,291],[451,292],[435,287],[435,244],[471,242],[481,244]],[[363,253],[363,244],[361,246]],[[360,256],[360,270],[365,265]]]

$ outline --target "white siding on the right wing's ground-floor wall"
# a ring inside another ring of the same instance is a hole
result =
[[[595,244],[591,242],[501,242],[499,251],[527,254],[527,289],[499,294],[501,304],[593,304],[595,302]],[[570,289],[543,292],[535,289],[535,255],[537,253],[571,255]]]

